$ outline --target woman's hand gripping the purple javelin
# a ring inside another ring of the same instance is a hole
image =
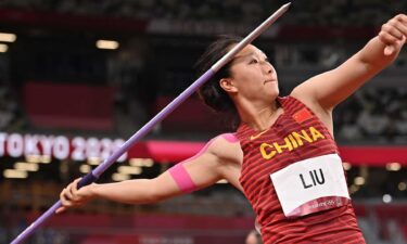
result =
[[[60,200],[62,207],[56,209],[56,214],[65,211],[69,207],[79,207],[85,205],[87,202],[94,197],[92,189],[94,183],[82,187],[78,190],[78,182],[81,178],[76,179],[71,184],[68,184],[60,194]]]

